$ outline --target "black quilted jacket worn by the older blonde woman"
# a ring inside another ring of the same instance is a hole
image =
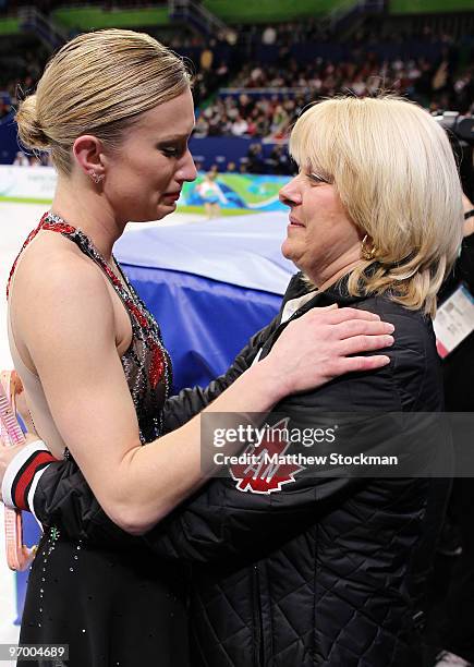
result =
[[[294,278],[285,298],[302,289]],[[429,320],[385,298],[348,296],[343,282],[302,312],[333,302],[376,312],[394,325],[391,364],[289,397],[279,413],[307,424],[325,411],[442,409]],[[168,429],[212,400],[262,347],[265,355],[280,330],[277,318],[226,376],[171,399]],[[66,465],[51,465],[42,475],[37,516],[72,537],[120,541],[81,473]],[[192,563],[193,664],[420,667],[423,590],[448,490],[442,480],[406,477],[296,475],[269,495],[241,492],[232,478],[210,482],[145,537],[159,557]]]

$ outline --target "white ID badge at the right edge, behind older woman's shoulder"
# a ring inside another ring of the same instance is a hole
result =
[[[439,306],[435,322],[436,347],[441,359],[448,356],[474,331],[474,296],[464,284]]]

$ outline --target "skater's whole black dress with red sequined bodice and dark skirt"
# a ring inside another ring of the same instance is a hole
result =
[[[47,214],[24,247],[40,230],[62,233],[75,243],[104,270],[120,296],[133,331],[131,345],[122,356],[123,372],[141,440],[146,444],[156,439],[171,383],[171,365],[157,323],[125,276],[112,271],[81,230]],[[69,465],[75,465],[71,457]],[[120,547],[117,538],[113,544],[108,546],[106,539],[94,546],[85,541],[71,542],[54,525],[45,526],[29,573],[21,643],[68,644],[69,660],[19,665],[187,666],[183,572],[161,562],[139,537],[123,534]]]

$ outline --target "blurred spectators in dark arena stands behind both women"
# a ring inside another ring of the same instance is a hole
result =
[[[459,27],[459,22],[455,25]],[[393,24],[369,19],[361,23],[347,44],[342,35],[335,35],[328,21],[311,19],[238,26],[236,44],[230,44],[224,36],[206,39],[175,28],[167,28],[165,34],[156,31],[154,36],[182,53],[192,65],[195,136],[255,138],[240,168],[255,173],[288,173],[288,158],[280,146],[265,159],[257,146],[262,140],[284,142],[301,110],[317,99],[391,90],[432,112],[472,114],[473,37],[464,34],[464,47],[460,49],[460,40],[457,43],[455,35],[447,34],[442,27],[441,24],[437,29],[435,23],[420,21],[416,25],[414,20]],[[342,45],[339,51],[338,39]],[[425,52],[403,57],[408,43],[414,44],[414,52],[418,47],[420,52]],[[305,46],[316,56],[308,58]],[[299,58],[297,49],[303,49],[306,57]],[[387,57],[387,52],[393,57]],[[37,50],[0,53],[0,120],[34,88],[47,57],[40,45]]]

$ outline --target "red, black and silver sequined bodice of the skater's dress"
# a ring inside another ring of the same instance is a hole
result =
[[[122,355],[121,361],[135,405],[141,441],[142,444],[150,442],[161,435],[161,411],[169,396],[172,383],[171,362],[162,345],[158,324],[139,299],[117,260],[114,259],[120,275],[110,268],[92,240],[84,232],[68,225],[59,216],[51,213],[42,216],[38,227],[33,230],[23,244],[19,257],[40,230],[59,232],[75,243],[85,255],[90,257],[101,268],[122,301],[132,325],[132,341],[126,352]],[[7,295],[9,294],[10,280],[19,257],[16,257],[10,272]]]

